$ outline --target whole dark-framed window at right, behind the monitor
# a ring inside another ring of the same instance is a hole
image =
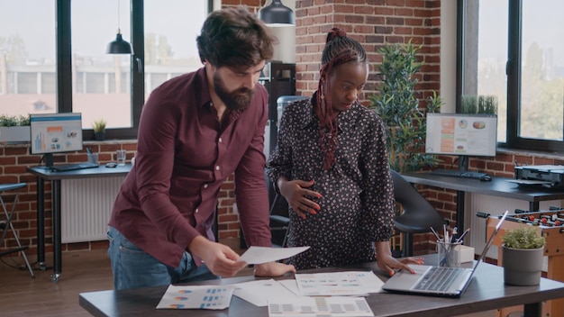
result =
[[[496,95],[500,146],[564,150],[562,9],[558,0],[459,0],[458,104]]]

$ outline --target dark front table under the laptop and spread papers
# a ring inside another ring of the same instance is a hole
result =
[[[432,259],[427,259],[432,263]],[[314,273],[342,270],[373,270],[378,277],[387,280],[376,266],[367,263],[342,268],[305,270],[299,273]],[[283,278],[292,278],[286,276]],[[254,276],[224,278],[195,284],[228,285],[254,280]],[[470,312],[484,312],[516,303],[525,304],[525,316],[541,316],[541,302],[564,295],[564,283],[542,278],[540,285],[513,286],[505,285],[503,268],[481,263],[459,298],[442,298],[406,294],[380,293],[366,297],[372,312],[376,316],[419,316],[437,317],[454,316]],[[267,307],[256,307],[233,296],[231,306],[222,311],[210,310],[157,310],[155,307],[167,287],[147,287],[123,291],[100,291],[79,294],[80,306],[94,316],[268,316]]]

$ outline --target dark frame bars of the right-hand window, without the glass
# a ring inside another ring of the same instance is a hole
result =
[[[457,3],[457,84],[456,84],[456,111],[459,113],[461,104],[464,78],[464,18],[466,16],[465,1]],[[476,0],[479,1],[479,0]],[[508,3],[508,44],[505,75],[507,76],[507,131],[506,141],[498,142],[499,148],[507,149],[532,149],[547,152],[564,152],[564,141],[540,140],[523,138],[519,136],[519,113],[521,108],[521,67],[522,67],[522,14],[523,0],[509,1]],[[564,118],[562,119],[564,122]]]

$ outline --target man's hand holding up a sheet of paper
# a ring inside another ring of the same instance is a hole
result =
[[[188,246],[190,252],[202,258],[205,266],[215,276],[235,276],[247,262],[237,262],[239,254],[226,245],[207,240],[203,236],[197,236]]]

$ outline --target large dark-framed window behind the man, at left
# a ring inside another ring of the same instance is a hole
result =
[[[201,67],[196,35],[210,7],[211,0],[0,0],[0,113],[77,112],[85,140],[94,139],[99,118],[106,138],[136,138],[150,92]],[[105,53],[118,27],[134,55]]]

